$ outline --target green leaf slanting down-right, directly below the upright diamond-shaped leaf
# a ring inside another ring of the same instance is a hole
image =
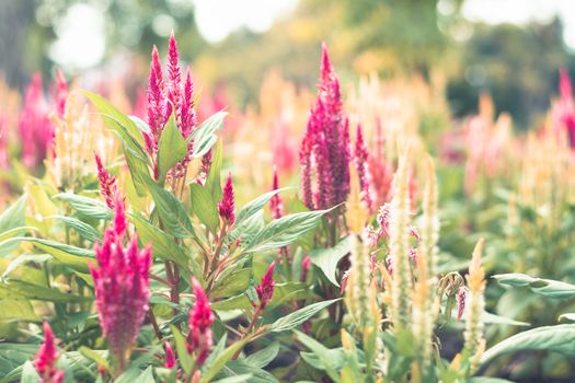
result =
[[[192,221],[184,205],[171,193],[162,189],[153,182],[148,183],[160,220],[164,230],[179,239],[195,236]]]

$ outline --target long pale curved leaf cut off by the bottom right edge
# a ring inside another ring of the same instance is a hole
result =
[[[575,355],[575,325],[556,325],[533,328],[516,334],[486,350],[481,357],[484,364],[502,355],[518,350],[547,350]]]

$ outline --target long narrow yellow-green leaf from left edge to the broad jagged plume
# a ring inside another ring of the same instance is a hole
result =
[[[10,242],[31,242],[36,247],[50,254],[54,258],[65,264],[66,266],[84,274],[90,271],[88,267],[89,259],[94,258],[94,252],[91,249],[80,248],[64,243],[27,236],[16,236],[7,240],[0,243],[0,246],[4,243]]]

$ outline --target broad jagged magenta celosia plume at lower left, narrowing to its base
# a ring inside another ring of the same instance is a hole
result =
[[[140,251],[137,235],[123,247],[124,204],[116,199],[115,206],[114,225],[104,232],[102,244],[94,246],[99,268],[91,265],[90,271],[102,332],[122,370],[148,311],[151,248]]]

